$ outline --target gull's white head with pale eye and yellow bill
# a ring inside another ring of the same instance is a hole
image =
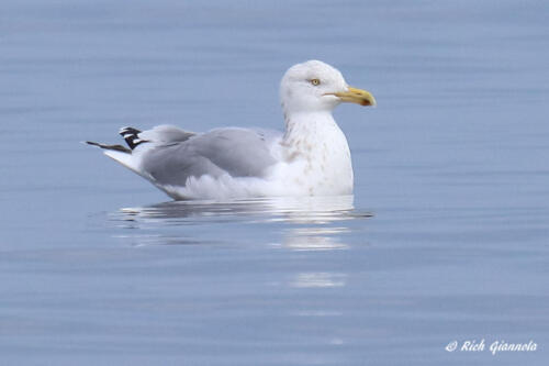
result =
[[[320,60],[290,67],[280,82],[280,99],[285,114],[332,112],[341,102],[376,106],[370,92],[350,87],[339,70]]]

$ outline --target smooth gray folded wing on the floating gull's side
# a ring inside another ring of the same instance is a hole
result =
[[[262,177],[277,163],[269,151],[273,136],[236,127],[212,130],[153,147],[144,154],[142,168],[159,184],[175,186],[203,175]]]

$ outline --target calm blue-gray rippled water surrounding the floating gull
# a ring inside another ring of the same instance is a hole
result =
[[[2,365],[547,365],[544,1],[0,3]],[[282,127],[318,58],[346,199],[166,203],[79,142]],[[451,341],[538,345],[447,352]]]

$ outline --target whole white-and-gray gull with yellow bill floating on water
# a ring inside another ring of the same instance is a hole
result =
[[[124,127],[128,147],[87,142],[176,200],[352,193],[347,138],[332,115],[340,102],[376,106],[320,62],[292,66],[280,84],[283,132],[171,125]]]

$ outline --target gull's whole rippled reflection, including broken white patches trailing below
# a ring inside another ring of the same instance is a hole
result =
[[[121,228],[134,229],[126,230],[125,240],[137,246],[237,243],[243,247],[257,247],[259,243],[260,248],[302,252],[300,257],[306,266],[295,262],[298,267],[289,268],[279,281],[269,281],[266,286],[317,293],[347,286],[349,276],[345,267],[336,265],[337,269],[327,268],[324,262],[316,262],[318,255],[325,258],[323,253],[326,251],[349,248],[347,235],[356,237],[357,230],[365,226],[357,220],[371,217],[371,213],[354,208],[352,196],[343,196],[231,202],[173,201],[122,209],[113,213],[113,221]],[[315,303],[306,309],[295,309],[291,314],[326,318],[340,317],[343,312],[332,304]],[[344,340],[327,335],[326,342],[343,344]]]

